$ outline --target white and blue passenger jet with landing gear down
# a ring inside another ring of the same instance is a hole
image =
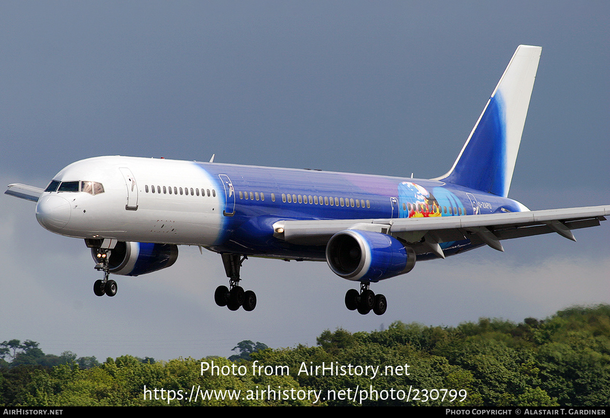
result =
[[[248,257],[326,261],[359,282],[348,310],[378,315],[387,299],[371,283],[410,272],[417,261],[503,239],[600,225],[610,205],[529,211],[508,198],[542,48],[520,45],[447,174],[413,179],[165,158],[106,156],[76,161],[45,188],[13,183],[5,194],[37,202],[51,232],[91,249],[96,296],[115,296],[113,275],[170,267],[178,246],[219,253],[229,286],[214,300],[256,307],[240,286]]]

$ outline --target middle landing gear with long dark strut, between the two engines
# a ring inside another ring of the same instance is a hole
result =
[[[239,269],[242,267],[247,255],[221,254],[223,258],[224,271],[229,278],[229,288],[218,286],[214,292],[214,300],[218,306],[227,306],[232,311],[237,311],[240,306],[245,311],[253,311],[256,308],[256,293],[251,290],[244,291],[239,285]]]

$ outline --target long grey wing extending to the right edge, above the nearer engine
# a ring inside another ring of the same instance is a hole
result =
[[[342,230],[368,230],[401,239],[416,253],[434,252],[444,258],[439,244],[463,239],[500,251],[502,239],[551,232],[576,241],[573,229],[598,226],[608,215],[610,206],[594,206],[436,218],[278,221],[273,235],[293,244],[326,245]]]

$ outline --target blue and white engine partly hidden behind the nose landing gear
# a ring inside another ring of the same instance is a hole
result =
[[[97,250],[91,248],[93,260],[98,262]],[[112,274],[137,276],[170,267],[178,258],[174,244],[123,243],[110,250],[109,267]]]

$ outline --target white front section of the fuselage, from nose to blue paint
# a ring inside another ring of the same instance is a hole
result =
[[[133,188],[127,186],[129,172],[135,181]],[[71,191],[42,194],[37,219],[61,235],[207,246],[215,243],[221,228],[218,182],[189,161],[88,158],[62,169],[54,180],[99,182],[104,187],[104,193],[95,195]],[[146,193],[145,187],[153,185],[166,193]],[[171,194],[167,193],[169,187]],[[191,196],[190,190],[195,188],[199,193]],[[205,197],[201,190],[206,191]]]

